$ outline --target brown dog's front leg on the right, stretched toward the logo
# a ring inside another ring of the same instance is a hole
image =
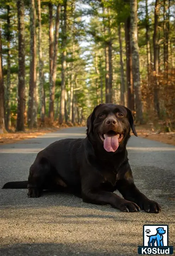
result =
[[[146,212],[161,212],[161,207],[157,202],[148,199],[138,190],[134,184],[134,179],[132,177],[132,171],[129,164],[126,167],[127,170],[125,171],[125,175],[116,183],[116,189],[126,200],[135,202],[141,209],[145,210]]]

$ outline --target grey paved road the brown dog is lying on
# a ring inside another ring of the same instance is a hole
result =
[[[38,151],[61,138],[85,136],[67,128],[16,144],[0,145],[0,187],[26,180]],[[135,183],[162,205],[162,213],[123,213],[83,203],[69,194],[28,198],[26,190],[0,190],[1,256],[137,255],[143,224],[168,224],[175,245],[175,147],[132,137],[128,143]]]

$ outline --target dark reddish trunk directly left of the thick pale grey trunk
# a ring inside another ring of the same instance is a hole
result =
[[[127,98],[128,108],[134,111],[134,86],[132,79],[132,54],[130,44],[130,17],[125,21],[125,42],[126,42],[126,78],[127,78]]]

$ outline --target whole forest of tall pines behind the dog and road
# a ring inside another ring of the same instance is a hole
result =
[[[175,129],[173,0],[0,0],[0,133],[85,125],[100,103]]]

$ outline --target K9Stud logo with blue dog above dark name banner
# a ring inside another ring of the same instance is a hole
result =
[[[143,246],[138,246],[138,254],[173,254],[173,246],[168,246],[168,225],[143,225]]]

